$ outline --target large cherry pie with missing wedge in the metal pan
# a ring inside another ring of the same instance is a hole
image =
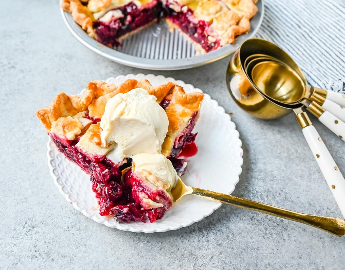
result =
[[[166,19],[198,49],[215,50],[249,31],[257,0],[62,0],[61,7],[90,37],[109,47]]]

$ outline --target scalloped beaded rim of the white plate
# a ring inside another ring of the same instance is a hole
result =
[[[171,81],[171,82],[174,82],[176,84],[179,84],[181,86],[188,86],[190,87],[191,89],[193,89],[193,91],[196,91],[196,92],[202,92],[203,91],[199,88],[195,88],[192,84],[188,84],[188,83],[185,83],[181,80],[175,80],[174,78],[171,78],[171,77],[164,77],[162,75],[154,75],[154,74],[142,74],[142,73],[139,73],[139,74],[128,74],[126,76],[124,75],[120,75],[120,76],[117,76],[115,79],[119,79],[119,78],[125,78],[125,79],[129,79],[129,78],[133,78],[133,79],[141,79],[141,78],[149,78],[149,77],[155,77],[155,78],[159,78],[159,79],[164,79],[164,80],[168,80],[168,81]],[[113,79],[113,77],[111,78],[108,78],[107,80],[105,81],[108,81],[110,79]],[[228,190],[228,191],[224,191],[225,193],[228,193],[228,194],[231,194],[234,190],[235,190],[235,186],[236,184],[238,183],[239,181],[239,176],[240,174],[242,173],[242,165],[243,165],[243,149],[242,149],[242,141],[241,139],[239,138],[239,132],[237,131],[236,129],[236,125],[233,121],[231,121],[231,117],[228,113],[225,112],[225,109],[221,106],[219,106],[218,102],[214,99],[212,99],[208,94],[204,93],[204,95],[211,101],[215,104],[215,106],[221,110],[222,113],[225,114],[226,118],[229,120],[229,122],[231,122],[233,125],[233,131],[235,133],[235,136],[234,136],[234,147],[236,148],[236,151],[242,153],[242,155],[239,156],[239,166],[238,168],[236,168],[235,171],[237,171],[237,176],[236,176],[236,181],[234,181],[233,183],[233,187],[231,190]],[[66,193],[65,191],[63,191],[63,187],[64,186],[61,186],[58,182],[58,176],[54,173],[54,171],[56,170],[56,168],[54,168],[52,166],[52,159],[51,159],[51,155],[50,155],[50,152],[52,151],[58,151],[58,149],[56,148],[56,146],[54,145],[53,148],[50,147],[50,144],[52,143],[52,141],[50,140],[50,137],[48,136],[48,142],[47,142],[47,159],[48,159],[48,167],[49,167],[49,171],[50,171],[50,175],[52,176],[53,180],[54,180],[54,183],[55,185],[58,187],[60,193],[65,197],[65,199],[71,203],[71,199],[69,197],[69,194]],[[72,206],[77,209],[79,212],[81,212],[82,214],[84,214],[84,216],[88,217],[88,218],[91,218],[93,219],[94,221],[96,221],[97,223],[100,223],[100,224],[104,224],[106,225],[107,227],[110,227],[110,228],[116,228],[116,229],[119,229],[119,230],[122,230],[122,231],[131,231],[131,232],[145,232],[145,233],[153,233],[153,232],[166,232],[166,231],[171,231],[171,230],[178,230],[180,228],[183,228],[183,227],[188,227],[190,226],[191,224],[195,223],[195,222],[199,222],[200,220],[203,220],[205,217],[208,217],[210,216],[215,210],[217,210],[220,206],[222,205],[222,203],[217,203],[215,204],[215,207],[210,210],[209,212],[206,212],[203,214],[203,216],[199,219],[194,219],[190,222],[186,222],[186,223],[180,223],[179,225],[177,226],[167,226],[167,227],[163,227],[163,228],[138,228],[138,229],[135,229],[135,228],[132,228],[130,226],[128,227],[124,227],[122,226],[122,224],[126,224],[126,223],[113,223],[113,224],[107,224],[107,219],[102,219],[102,220],[99,220],[99,219],[96,219],[96,216],[89,216],[88,212],[85,212],[83,211],[83,209],[81,207],[79,207],[78,204],[76,203],[72,203]]]

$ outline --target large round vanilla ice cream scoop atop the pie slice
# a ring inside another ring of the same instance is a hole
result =
[[[169,120],[156,100],[142,88],[109,99],[100,123],[103,145],[116,142],[124,157],[161,153]]]

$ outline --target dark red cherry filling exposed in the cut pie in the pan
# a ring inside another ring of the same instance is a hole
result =
[[[102,44],[110,47],[121,46],[119,38],[126,34],[139,29],[140,27],[149,24],[154,20],[167,18],[172,23],[177,25],[181,31],[186,33],[190,39],[194,40],[206,51],[209,52],[219,47],[219,41],[210,42],[206,35],[210,26],[207,22],[199,20],[195,23],[193,11],[189,8],[186,12],[176,12],[158,0],[152,1],[149,8],[140,9],[134,2],[114,9],[120,10],[124,17],[113,18],[108,22],[97,20],[93,22],[93,29],[97,34],[97,39]],[[194,19],[194,21],[193,21]]]

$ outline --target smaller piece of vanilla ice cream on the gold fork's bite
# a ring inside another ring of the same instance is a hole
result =
[[[132,156],[132,171],[149,171],[167,186],[169,192],[175,187],[178,176],[171,161],[162,154],[141,153]]]

